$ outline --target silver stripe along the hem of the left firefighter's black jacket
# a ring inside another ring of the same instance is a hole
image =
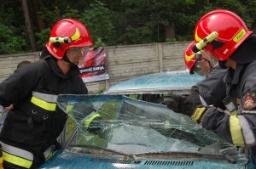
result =
[[[0,144],[2,144],[2,146],[3,146],[3,151],[5,151],[11,155],[19,156],[19,157],[29,160],[29,161],[33,161],[33,159],[34,159],[33,154],[29,151],[26,151],[25,149],[20,149],[20,148],[14,147],[9,144],[4,144],[1,141],[0,141]]]

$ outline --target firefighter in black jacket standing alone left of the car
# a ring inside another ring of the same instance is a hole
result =
[[[0,104],[14,104],[0,133],[4,168],[38,168],[52,155],[67,121],[56,98],[59,94],[88,93],[77,65],[92,44],[81,22],[60,20],[40,59],[0,83]],[[96,118],[99,116],[90,121]]]

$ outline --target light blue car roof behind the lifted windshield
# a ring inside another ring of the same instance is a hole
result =
[[[106,94],[143,94],[165,93],[169,91],[189,90],[205,77],[190,75],[185,70],[166,71],[161,73],[137,76],[124,82],[119,82],[105,91]]]

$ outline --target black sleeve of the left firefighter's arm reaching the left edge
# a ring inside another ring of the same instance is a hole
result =
[[[3,106],[18,104],[19,100],[26,98],[32,92],[45,69],[39,62],[20,67],[0,83],[0,104]]]

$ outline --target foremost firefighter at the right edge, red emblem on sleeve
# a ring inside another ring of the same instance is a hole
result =
[[[256,37],[241,18],[228,10],[213,10],[195,26],[194,52],[201,51],[229,67],[224,78],[226,110],[212,106],[198,107],[192,119],[202,127],[256,157]],[[226,113],[227,110],[230,113]],[[254,160],[255,161],[255,160]]]

